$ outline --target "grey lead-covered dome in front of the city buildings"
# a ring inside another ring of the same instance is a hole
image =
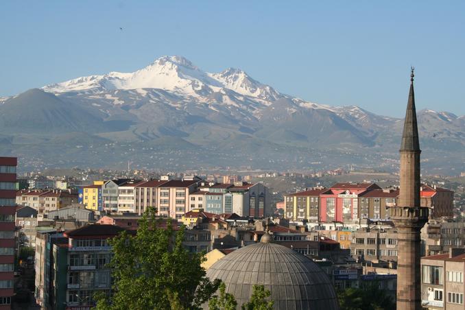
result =
[[[214,263],[206,275],[221,279],[240,307],[253,285],[271,291],[274,309],[339,309],[328,276],[311,259],[276,243],[260,242],[240,248]]]

